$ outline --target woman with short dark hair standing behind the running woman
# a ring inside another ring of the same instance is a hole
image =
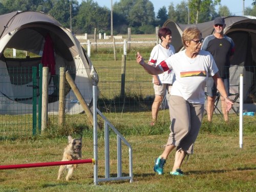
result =
[[[175,54],[175,49],[170,42],[172,42],[172,31],[169,28],[161,28],[158,31],[158,37],[161,40],[160,44],[156,45],[150,54],[149,65],[158,66],[160,62]],[[164,96],[170,93],[170,88],[173,86],[175,75],[171,70],[165,71],[159,75],[153,75],[155,99],[152,104],[152,121],[151,125],[155,125],[159,107],[163,101]],[[169,104],[169,103],[168,103]]]

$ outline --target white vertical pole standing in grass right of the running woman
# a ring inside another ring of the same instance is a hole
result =
[[[243,74],[240,75],[240,102],[239,102],[239,145],[243,148]]]

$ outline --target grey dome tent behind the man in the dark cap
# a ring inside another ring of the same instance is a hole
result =
[[[250,92],[256,92],[256,17],[252,16],[228,16],[225,18],[226,28],[224,34],[231,37],[235,44],[234,57],[230,66],[230,85],[239,84],[240,74],[244,75],[244,99]],[[181,41],[182,31],[191,25],[177,24],[172,20],[166,20],[163,27],[172,30],[172,45],[176,51],[183,49]],[[202,37],[214,33],[214,20],[195,24],[202,32]]]

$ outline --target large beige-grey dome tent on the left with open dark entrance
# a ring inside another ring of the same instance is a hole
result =
[[[92,103],[93,84],[97,84],[98,75],[80,42],[70,32],[62,27],[53,17],[31,11],[16,11],[0,15],[0,114],[24,114],[32,109],[31,78],[20,80],[20,67],[37,66],[41,62],[45,37],[52,39],[56,75],[59,67],[71,69],[72,77],[77,84],[84,100]],[[37,54],[35,58],[6,58],[7,49],[29,51]],[[15,72],[15,73],[14,73]],[[29,73],[28,71],[25,71]],[[55,72],[54,72],[55,73]],[[54,78],[49,74],[49,86],[54,84]],[[56,82],[56,80],[55,80]],[[49,98],[56,94],[49,91]],[[81,113],[83,111],[73,91],[66,93],[66,113]],[[58,111],[58,99],[49,99],[48,109]]]

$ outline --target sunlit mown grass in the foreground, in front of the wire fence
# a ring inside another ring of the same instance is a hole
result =
[[[93,165],[80,164],[69,182],[64,177],[56,180],[58,166],[0,170],[0,191],[255,191],[255,130],[251,132],[245,129],[242,149],[239,148],[237,127],[233,127],[232,132],[222,134],[202,130],[195,143],[195,154],[182,165],[185,177],[172,177],[167,172],[172,169],[174,152],[167,160],[164,175],[153,172],[154,159],[162,153],[162,145],[168,137],[168,127],[164,129],[158,135],[124,135],[133,147],[133,183],[127,180],[112,181],[94,186]],[[104,177],[104,141],[101,134],[98,142],[101,178]],[[66,137],[48,138],[47,135],[1,140],[1,165],[60,161],[66,144]],[[115,175],[114,136],[110,139],[110,149],[111,175]],[[129,164],[125,146],[122,153],[122,169],[126,176],[129,174]],[[90,131],[83,133],[82,156],[83,159],[93,158],[93,136]]]

